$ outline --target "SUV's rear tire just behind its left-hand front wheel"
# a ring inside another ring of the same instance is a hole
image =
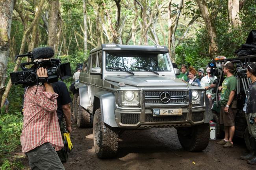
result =
[[[77,99],[78,102],[78,110],[76,114],[76,124],[78,128],[91,128],[91,115],[86,110],[80,106],[80,98]]]

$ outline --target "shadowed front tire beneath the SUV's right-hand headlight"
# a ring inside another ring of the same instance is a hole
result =
[[[187,128],[177,128],[177,133],[181,146],[190,152],[204,150],[210,141],[209,123]]]

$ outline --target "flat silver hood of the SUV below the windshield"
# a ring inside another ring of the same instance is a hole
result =
[[[105,80],[113,82],[124,82],[130,86],[187,86],[182,80],[174,76],[142,76],[142,75],[120,75],[106,76]]]

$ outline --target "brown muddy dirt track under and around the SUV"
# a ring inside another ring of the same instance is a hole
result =
[[[174,128],[125,131],[120,136],[116,158],[101,160],[95,154],[92,128],[79,129],[72,123],[74,149],[69,154],[66,170],[255,170],[240,160],[246,154],[242,140],[234,148],[223,148],[210,141],[203,152],[187,152],[178,141]],[[23,162],[26,162],[24,160]]]

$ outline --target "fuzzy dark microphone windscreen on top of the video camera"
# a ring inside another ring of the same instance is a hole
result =
[[[54,56],[54,50],[52,47],[37,47],[32,51],[34,59],[46,59]]]

